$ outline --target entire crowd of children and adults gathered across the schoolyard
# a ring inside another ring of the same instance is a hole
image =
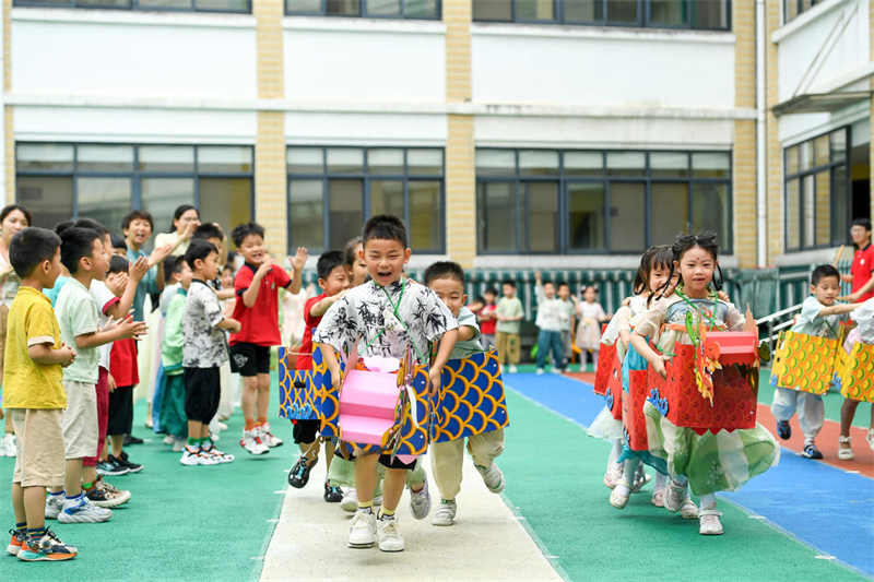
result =
[[[55,231],[31,227],[32,222],[22,206],[0,212],[0,379],[8,412],[0,452],[15,456],[16,523],[8,551],[25,561],[66,560],[76,556],[76,548],[61,542],[45,520],[109,520],[111,508],[131,496],[104,477],[143,470],[125,450],[133,439],[133,402],[141,384],[150,403],[146,425],[165,435],[185,466],[235,461],[214,441],[227,428],[222,420],[237,397],[245,420],[240,447],[262,455],[283,446],[269,420],[271,348],[288,343],[280,325],[282,289],[300,292],[308,253],[299,248],[288,257],[288,272],[268,253],[263,227],[247,223],[233,228],[236,253],[229,256],[222,228],[201,224],[197,209],[188,205],[177,209],[170,233],[157,237],[151,253],[144,248],[154,224],[144,211],[125,216],[123,237],[91,218],[61,223]],[[867,236],[860,236],[860,252],[870,253],[871,225],[859,226]],[[297,369],[310,369],[318,348],[330,381],[339,385],[336,354],[357,343],[359,355],[390,358],[403,357],[412,346],[416,361],[429,363],[432,394],[440,389],[449,360],[492,346],[501,370],[517,372],[525,312],[516,282],[503,282],[499,298],[487,287],[469,309],[460,265],[436,262],[418,284],[404,271],[411,252],[404,224],[379,215],[345,249],[318,258],[322,293],[303,304]],[[874,299],[864,297],[874,286],[872,261],[864,266],[864,260],[858,259],[863,266],[854,263],[852,275],[851,298],[859,302],[849,305],[836,302],[843,276],[829,265],[814,270],[812,297],[793,330],[834,338],[838,325],[852,320],[858,329],[850,344],[874,343]],[[673,247],[645,253],[638,295],[611,318],[598,304],[595,287],[582,288],[580,300],[568,284],[544,282],[536,273],[538,373],[545,371],[548,357],[552,371],[568,370],[575,352],[586,370],[589,355],[598,363],[602,343],[615,344],[627,392],[630,371],[650,367],[664,376],[666,355],[677,344],[693,343],[689,318],[707,318],[719,330],[755,329],[748,312],[742,314],[718,293],[719,274],[714,237],[681,235]],[[241,384],[238,396],[235,383]],[[788,421],[796,408],[804,454],[822,459],[814,442],[823,426],[820,399],[778,388],[772,404],[778,435],[789,438]],[[657,471],[653,504],[699,519],[701,534],[721,534],[714,494],[736,489],[779,460],[776,440],[759,425],[717,437],[674,426],[649,402],[642,414],[652,428],[647,450],[631,449],[623,421],[606,409],[590,428],[590,435],[614,442],[604,483],[618,509],[648,483],[646,464]],[[294,423],[299,456],[290,485],[307,485],[323,450],[324,500],[354,512],[349,546],[403,550],[395,512],[404,488],[416,519],[432,509],[422,458],[394,458],[379,448],[343,450],[342,442],[322,439],[319,429],[318,420]],[[874,448],[874,426],[869,441]],[[504,489],[495,464],[504,450],[503,429],[466,443],[433,444],[428,453],[440,496],[434,525],[454,523],[465,448],[487,489]],[[851,458],[848,433],[840,449],[841,459]],[[700,509],[690,494],[700,496]]]

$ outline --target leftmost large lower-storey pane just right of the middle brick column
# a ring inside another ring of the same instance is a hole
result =
[[[518,201],[516,182],[480,182],[480,249],[485,252],[516,252]]]

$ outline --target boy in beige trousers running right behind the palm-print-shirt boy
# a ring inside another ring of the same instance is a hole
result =
[[[464,294],[464,270],[450,261],[433,263],[425,270],[425,285],[440,298],[452,312],[459,324],[458,342],[449,355],[449,359],[459,359],[483,351],[480,345],[480,329],[476,316],[464,307],[468,296]],[[468,437],[468,452],[473,456],[473,464],[489,491],[499,494],[504,490],[504,473],[495,459],[504,452],[504,429],[491,430]],[[458,504],[456,497],[461,491],[461,467],[464,463],[464,439],[430,446],[430,466],[434,480],[440,491],[440,506],[434,512],[433,525],[452,525],[456,521]]]

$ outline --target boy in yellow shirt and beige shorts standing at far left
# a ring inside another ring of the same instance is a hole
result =
[[[21,280],[9,309],[3,407],[17,435],[12,475],[15,528],[7,551],[24,561],[61,561],[78,550],[46,527],[46,487],[63,484],[61,417],[67,394],[62,367],[75,359],[61,343],[60,328],[44,288],[60,275],[61,241],[51,230],[25,228],[9,245],[9,262]]]

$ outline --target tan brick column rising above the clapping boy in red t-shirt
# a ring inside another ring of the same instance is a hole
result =
[[[281,99],[285,95],[282,46],[282,0],[255,0],[257,19],[258,97]],[[285,114],[258,111],[255,144],[255,216],[267,229],[265,242],[276,260],[288,247],[285,183]]]

